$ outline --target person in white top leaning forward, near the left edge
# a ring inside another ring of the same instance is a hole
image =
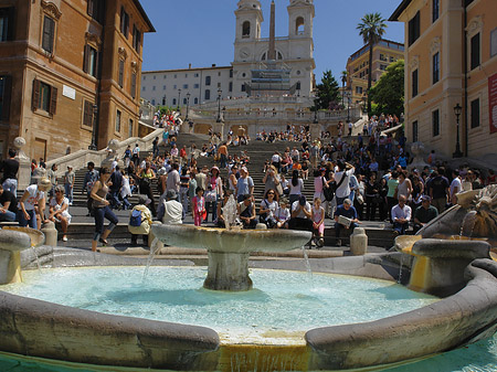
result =
[[[40,222],[45,221],[45,192],[52,189],[52,182],[42,177],[38,183],[30,184],[19,201],[19,225],[38,228],[36,208]]]

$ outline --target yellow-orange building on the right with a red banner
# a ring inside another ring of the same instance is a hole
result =
[[[403,0],[390,17],[405,24],[408,140],[445,156],[497,152],[496,9],[496,0]]]

